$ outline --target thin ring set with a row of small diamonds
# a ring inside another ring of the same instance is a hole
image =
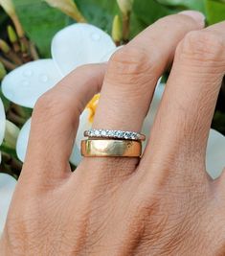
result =
[[[134,131],[112,130],[112,129],[89,129],[84,131],[87,137],[118,138],[125,140],[143,140],[145,136]]]

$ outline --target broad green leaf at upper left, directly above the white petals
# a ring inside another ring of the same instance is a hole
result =
[[[70,18],[41,0],[13,0],[26,35],[36,44],[41,57],[50,57],[51,40]]]

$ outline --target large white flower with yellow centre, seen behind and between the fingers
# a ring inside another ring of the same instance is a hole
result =
[[[107,60],[116,51],[111,37],[95,26],[88,24],[74,24],[59,31],[52,41],[51,59],[40,59],[27,63],[7,75],[2,82],[4,95],[11,102],[34,107],[38,97],[53,87],[70,71],[82,64],[101,62]],[[153,123],[153,117],[162,97],[164,85],[158,84],[153,103],[146,117],[143,132],[148,134]],[[70,161],[75,165],[81,159],[79,144],[84,129],[92,125],[92,116],[95,114],[94,99],[80,116],[79,131],[76,145],[71,154]],[[16,151],[23,161],[27,149],[31,120],[28,120],[21,129]],[[215,130],[211,130],[207,149],[207,169],[211,176],[218,176],[225,166],[225,137]]]

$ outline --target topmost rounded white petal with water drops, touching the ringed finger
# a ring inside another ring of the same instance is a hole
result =
[[[63,75],[76,67],[100,62],[116,48],[112,38],[101,29],[83,23],[73,24],[59,31],[52,41],[52,57]]]

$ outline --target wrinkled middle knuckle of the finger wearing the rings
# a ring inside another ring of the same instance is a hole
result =
[[[146,84],[153,79],[156,63],[154,58],[148,58],[144,49],[124,46],[110,58],[106,81],[113,81],[114,85]]]

